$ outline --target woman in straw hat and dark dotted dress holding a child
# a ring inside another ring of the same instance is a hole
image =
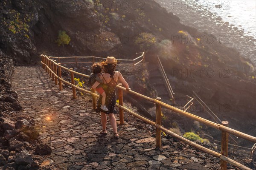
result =
[[[125,81],[125,79],[122,77],[122,74],[119,71],[115,71],[116,69],[117,60],[115,57],[107,57],[107,60],[105,62],[102,62],[103,65],[103,72],[101,75],[101,78],[103,79],[102,88],[104,89],[107,98],[105,101],[105,105],[108,108],[108,111],[104,111],[100,108],[102,105],[102,95],[99,96],[98,102],[97,102],[97,108],[96,112],[101,113],[101,122],[102,122],[102,131],[101,133],[106,135],[108,132],[106,130],[107,127],[107,115],[109,116],[111,126],[113,128],[114,137],[119,137],[119,134],[117,133],[116,128],[116,118],[113,114],[114,108],[116,105],[116,91],[115,87],[119,82],[122,83],[122,85],[126,88],[126,90],[129,90],[129,85]],[[99,85],[99,82],[95,82],[92,86],[93,89],[95,89]]]

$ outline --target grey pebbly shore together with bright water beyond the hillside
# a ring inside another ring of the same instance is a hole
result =
[[[220,37],[256,66],[256,0],[155,0],[180,23]]]

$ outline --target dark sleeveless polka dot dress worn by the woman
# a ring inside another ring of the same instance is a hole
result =
[[[97,108],[96,113],[104,112],[106,114],[109,113],[115,113],[115,106],[116,106],[116,88],[117,82],[113,79],[107,84],[102,84],[102,88],[104,89],[106,93],[106,100],[105,105],[108,108],[108,111],[103,111],[100,106],[102,105],[102,95],[99,96],[98,102],[97,102]]]

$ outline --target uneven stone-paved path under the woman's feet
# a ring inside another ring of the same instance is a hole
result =
[[[90,97],[72,99],[72,90],[59,91],[40,67],[16,67],[12,88],[19,95],[23,113],[35,120],[39,139],[50,144],[51,156],[63,170],[217,168],[203,153],[173,139],[163,139],[163,147],[156,149],[152,134],[136,119],[118,127],[119,139],[113,138],[109,121],[108,135],[101,136],[100,115],[92,110]]]

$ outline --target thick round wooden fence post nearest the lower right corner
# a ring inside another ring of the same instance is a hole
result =
[[[228,127],[228,122],[223,121],[221,125]],[[228,152],[228,133],[222,131],[221,132],[221,155],[227,156]],[[221,170],[227,170],[227,162],[221,160]]]

